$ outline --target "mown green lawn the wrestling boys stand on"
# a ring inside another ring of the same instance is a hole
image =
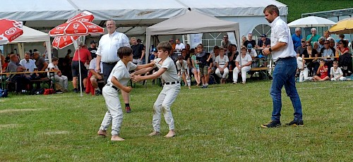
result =
[[[182,87],[172,105],[172,139],[147,136],[161,88],[138,85],[132,113],[124,113],[124,142],[96,135],[107,110],[103,96],[11,95],[0,99],[0,161],[353,160],[353,82],[298,83],[305,126],[264,129],[272,113],[270,84]],[[282,125],[293,118],[283,93]],[[167,129],[162,119],[162,135]]]

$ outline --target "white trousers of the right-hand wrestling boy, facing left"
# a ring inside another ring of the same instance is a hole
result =
[[[170,106],[177,98],[180,92],[180,84],[164,85],[162,91],[157,97],[153,105],[153,130],[160,132],[160,120],[163,113],[165,123],[169,126],[169,130],[174,130],[174,119]]]

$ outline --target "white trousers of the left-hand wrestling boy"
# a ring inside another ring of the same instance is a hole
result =
[[[108,111],[105,113],[100,130],[107,130],[110,122],[112,122],[112,135],[119,135],[121,123],[123,122],[119,92],[112,87],[104,86],[102,94]]]

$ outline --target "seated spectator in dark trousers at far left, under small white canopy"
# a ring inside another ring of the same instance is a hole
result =
[[[8,63],[7,66],[7,73],[16,73],[16,72],[23,72],[25,71],[26,68],[23,66],[20,66],[20,63],[18,63],[18,57],[16,54],[11,54],[10,56],[10,63]],[[26,77],[23,74],[16,74],[16,75],[10,75],[10,80],[11,82],[16,82],[16,92],[17,93],[25,93],[26,92],[26,87],[30,84],[30,79]],[[29,90],[29,89],[27,89]]]

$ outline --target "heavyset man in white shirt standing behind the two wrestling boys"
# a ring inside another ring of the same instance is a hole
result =
[[[107,20],[106,23],[108,34],[103,35],[100,38],[100,42],[97,49],[97,62],[96,62],[96,72],[100,72],[100,62],[103,64],[103,79],[104,84],[107,84],[108,77],[112,72],[116,63],[120,60],[117,55],[118,49],[121,46],[130,47],[128,37],[124,33],[116,32],[116,23],[114,20]],[[129,94],[121,91],[125,102],[125,109],[127,113],[131,112],[129,104]]]

